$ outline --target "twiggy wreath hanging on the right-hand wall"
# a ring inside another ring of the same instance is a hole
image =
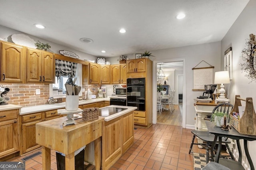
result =
[[[246,39],[246,48],[242,50],[241,70],[245,71],[251,82],[256,80],[256,39],[254,34],[250,34],[250,39]]]

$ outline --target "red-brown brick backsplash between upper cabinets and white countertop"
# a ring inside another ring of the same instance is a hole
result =
[[[6,94],[6,96],[10,97],[8,104],[19,105],[22,107],[48,104],[48,99],[50,97],[49,84],[1,84],[3,87],[10,88],[10,92]],[[82,88],[85,88],[85,90],[90,88],[90,91],[92,94],[96,95],[96,97],[98,97],[98,88],[100,87],[101,85],[98,84],[88,84],[82,86]],[[40,89],[40,95],[36,95],[36,89]]]

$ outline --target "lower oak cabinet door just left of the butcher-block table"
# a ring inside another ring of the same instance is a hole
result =
[[[42,120],[22,124],[21,154],[41,147],[36,143],[36,123],[39,123],[41,121]]]

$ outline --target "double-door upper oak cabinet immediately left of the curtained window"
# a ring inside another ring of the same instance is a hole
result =
[[[54,54],[38,49],[27,48],[27,81],[28,83],[54,83]]]

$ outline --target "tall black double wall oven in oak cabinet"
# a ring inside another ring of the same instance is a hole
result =
[[[145,78],[127,78],[127,106],[145,111]]]

